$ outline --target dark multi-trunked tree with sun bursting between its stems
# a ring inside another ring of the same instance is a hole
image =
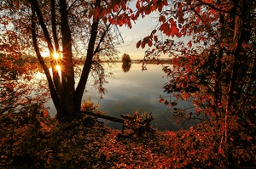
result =
[[[111,25],[131,27],[131,21],[126,19],[127,13],[131,12],[126,3],[101,0],[1,2],[2,24],[14,35],[6,40],[6,44],[12,45],[16,41],[20,44],[19,52],[29,51],[37,55],[58,119],[79,115],[92,65],[100,61],[102,56],[113,57],[115,50]],[[52,75],[42,57],[44,50],[49,51]],[[76,85],[75,72],[79,65],[75,65],[74,55],[85,55]],[[61,69],[58,70],[56,66]]]

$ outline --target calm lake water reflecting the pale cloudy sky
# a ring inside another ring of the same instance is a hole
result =
[[[120,117],[121,114],[132,114],[136,110],[140,113],[147,111],[152,113],[154,121],[152,126],[158,130],[178,130],[180,126],[173,121],[172,110],[168,106],[159,102],[160,95],[170,98],[170,95],[163,93],[162,87],[168,80],[162,71],[163,65],[147,65],[148,70],[142,71],[142,64],[132,64],[128,72],[122,70],[121,63],[112,65],[113,78],[108,78],[108,83],[104,84],[108,92],[100,99],[95,87],[89,82],[84,93],[84,99],[91,99],[95,104],[99,104],[98,110],[103,110],[106,115]],[[175,98],[172,98],[175,100]],[[54,112],[53,104],[48,104],[49,112]],[[189,108],[191,104],[180,101],[179,108]],[[188,111],[194,111],[189,109]],[[112,121],[104,121],[106,126],[121,129],[121,124]],[[195,124],[192,122],[191,124]]]

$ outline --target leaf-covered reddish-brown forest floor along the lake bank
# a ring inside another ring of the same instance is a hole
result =
[[[84,118],[58,122],[50,118],[0,118],[0,168],[244,168],[255,165],[252,139],[233,146],[225,161],[215,132],[193,127],[177,132],[121,131]],[[241,154],[242,152],[242,154]],[[236,161],[235,161],[236,160]],[[224,167],[228,165],[228,167]],[[230,167],[232,166],[232,167]],[[236,167],[235,167],[236,166]],[[254,167],[255,168],[255,167]]]

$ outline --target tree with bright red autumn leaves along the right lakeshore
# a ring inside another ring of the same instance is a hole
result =
[[[177,110],[177,117],[201,118],[199,130],[211,131],[208,146],[214,147],[212,155],[217,149],[221,167],[255,165],[255,145],[248,146],[256,133],[255,8],[248,0],[137,2],[137,15],[160,12],[159,26],[137,42],[137,48],[153,46],[146,59],[163,53],[173,58],[172,69],[165,69],[170,83],[164,89],[177,99],[192,99],[195,115]],[[157,31],[191,40],[159,41]]]

